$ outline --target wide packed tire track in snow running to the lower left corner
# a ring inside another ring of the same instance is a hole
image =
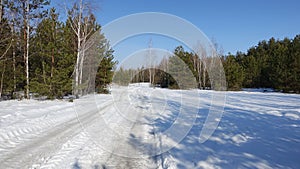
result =
[[[103,107],[101,112],[111,104],[112,103]],[[95,116],[98,115],[98,113],[96,110],[86,112],[80,116],[81,124],[78,122],[78,119],[72,119],[66,124],[58,125],[52,130],[47,131],[45,135],[19,145],[4,156],[1,156],[0,163],[2,167],[10,168],[11,166],[22,166],[22,168],[36,168],[55,154],[57,150],[60,150],[63,143],[82,132],[82,124],[85,126],[92,124],[97,119]],[[67,151],[64,152],[66,153]],[[60,155],[62,159],[65,157],[65,155]],[[35,165],[32,166],[33,164]]]

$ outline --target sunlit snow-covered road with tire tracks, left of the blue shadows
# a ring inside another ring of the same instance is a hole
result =
[[[128,142],[154,136],[142,122],[142,107],[124,105],[127,97],[121,90],[119,100],[96,95],[75,103],[2,102],[1,168],[157,168]],[[122,114],[116,104],[126,107]]]

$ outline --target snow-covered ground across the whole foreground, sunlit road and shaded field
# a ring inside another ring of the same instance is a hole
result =
[[[300,168],[300,95],[224,92],[222,119],[200,143],[214,93],[131,85],[0,102],[0,168]]]

